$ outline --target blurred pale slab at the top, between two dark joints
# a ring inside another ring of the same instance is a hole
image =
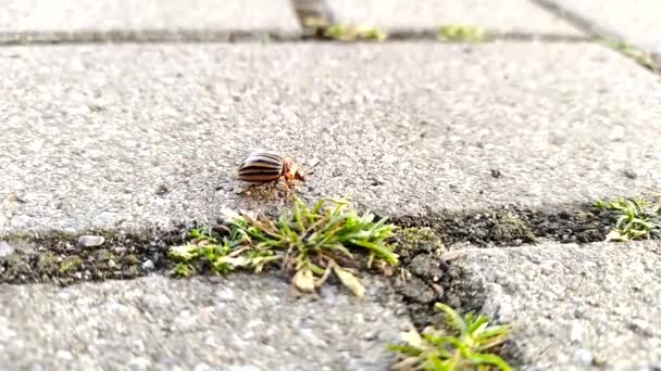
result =
[[[389,31],[467,25],[498,34],[582,35],[565,21],[527,0],[327,0],[326,3],[336,22],[371,24]]]

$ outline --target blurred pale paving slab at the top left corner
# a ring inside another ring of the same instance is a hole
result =
[[[301,33],[287,0],[0,0],[0,42]]]

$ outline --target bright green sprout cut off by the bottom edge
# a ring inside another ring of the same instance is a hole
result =
[[[392,370],[504,370],[511,367],[499,356],[490,353],[510,335],[510,325],[492,325],[484,316],[470,312],[462,318],[454,309],[442,303],[436,308],[445,314],[449,331],[431,329],[422,334],[412,330],[402,340],[406,344],[388,348],[399,354]]]

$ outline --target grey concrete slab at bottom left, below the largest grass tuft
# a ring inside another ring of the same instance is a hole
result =
[[[211,282],[209,282],[211,281]],[[366,297],[336,285],[295,297],[289,283],[227,279],[0,285],[5,370],[385,370],[409,329],[377,280]],[[323,308],[323,310],[322,310]]]

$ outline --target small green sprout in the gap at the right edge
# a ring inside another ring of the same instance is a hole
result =
[[[615,228],[607,235],[607,241],[661,239],[661,195],[654,203],[645,199],[618,197],[598,200],[595,206],[616,217]]]

